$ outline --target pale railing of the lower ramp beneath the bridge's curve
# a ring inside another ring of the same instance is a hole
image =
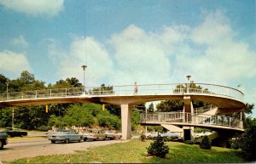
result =
[[[191,124],[203,124],[223,127],[243,128],[243,122],[230,116],[203,116],[195,113],[186,112],[158,112],[158,113],[141,113],[141,122],[143,123],[164,123],[164,122],[181,122]]]

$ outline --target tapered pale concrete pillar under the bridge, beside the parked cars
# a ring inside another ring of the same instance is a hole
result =
[[[121,105],[122,139],[131,139],[131,105]]]

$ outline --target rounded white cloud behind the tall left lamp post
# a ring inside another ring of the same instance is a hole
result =
[[[93,37],[75,38],[71,43],[70,50],[64,54],[51,42],[49,53],[54,57],[55,64],[60,68],[57,72],[61,78],[77,77],[83,82],[83,69],[81,65],[87,65],[85,70],[86,85],[94,86],[106,83],[108,76],[112,74],[113,62],[108,52],[100,42]]]

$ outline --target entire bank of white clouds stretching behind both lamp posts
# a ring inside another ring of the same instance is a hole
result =
[[[107,42],[80,37],[67,54],[54,51],[60,52],[59,75],[83,82],[80,65],[85,64],[90,86],[186,82],[187,75],[195,82],[228,85],[256,76],[255,52],[236,41],[230,20],[219,10],[205,14],[195,27],[172,25],[153,32],[129,25]]]

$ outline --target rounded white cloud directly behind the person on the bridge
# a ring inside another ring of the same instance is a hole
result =
[[[168,82],[171,63],[156,34],[136,25],[113,35],[116,60],[113,82],[119,84]]]

